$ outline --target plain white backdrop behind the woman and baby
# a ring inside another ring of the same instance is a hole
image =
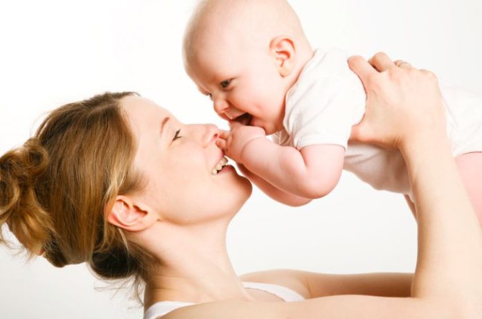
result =
[[[184,72],[181,37],[195,1],[1,1],[0,153],[24,143],[44,113],[102,91],[138,91],[184,122],[218,120]],[[482,93],[479,0],[290,1],[314,47],[339,47],[430,69]],[[343,173],[302,208],[258,190],[233,220],[239,273],[412,272],[416,224],[400,194]],[[106,288],[107,287],[107,288]],[[84,264],[55,268],[0,248],[0,318],[141,318],[131,291],[115,293]]]

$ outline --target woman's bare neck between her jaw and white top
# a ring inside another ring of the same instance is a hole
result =
[[[161,300],[208,302],[251,299],[244,291],[226,250],[226,224],[154,230],[152,266],[145,287],[145,307]]]

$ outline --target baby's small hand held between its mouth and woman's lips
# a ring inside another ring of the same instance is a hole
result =
[[[265,138],[265,130],[261,127],[242,125],[240,122],[229,122],[231,131],[220,131],[216,141],[224,154],[237,163],[243,163],[242,151],[246,145],[256,138]]]

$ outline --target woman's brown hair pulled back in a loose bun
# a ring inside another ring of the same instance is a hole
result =
[[[87,262],[103,279],[145,278],[150,255],[106,221],[118,194],[141,188],[120,99],[104,93],[55,109],[35,136],[0,157],[0,226],[51,264]],[[8,244],[0,232],[0,242]]]

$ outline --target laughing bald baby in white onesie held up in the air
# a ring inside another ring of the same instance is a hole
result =
[[[218,145],[270,197],[292,206],[323,197],[344,168],[405,194],[413,209],[401,154],[349,140],[366,94],[347,58],[313,51],[285,0],[202,1],[184,39],[188,75],[231,126]],[[441,91],[453,154],[482,220],[482,98]]]

